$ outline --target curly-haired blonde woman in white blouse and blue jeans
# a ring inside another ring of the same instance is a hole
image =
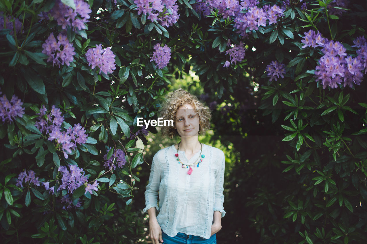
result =
[[[162,127],[163,135],[178,134],[181,142],[153,157],[144,208],[149,236],[153,244],[217,243],[215,233],[225,215],[225,158],[220,149],[198,140],[210,128],[210,111],[180,88],[168,96],[160,117],[174,120],[173,127]]]

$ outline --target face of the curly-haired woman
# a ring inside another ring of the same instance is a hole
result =
[[[191,104],[184,104],[177,110],[174,128],[181,137],[197,136],[200,129],[199,114]]]

